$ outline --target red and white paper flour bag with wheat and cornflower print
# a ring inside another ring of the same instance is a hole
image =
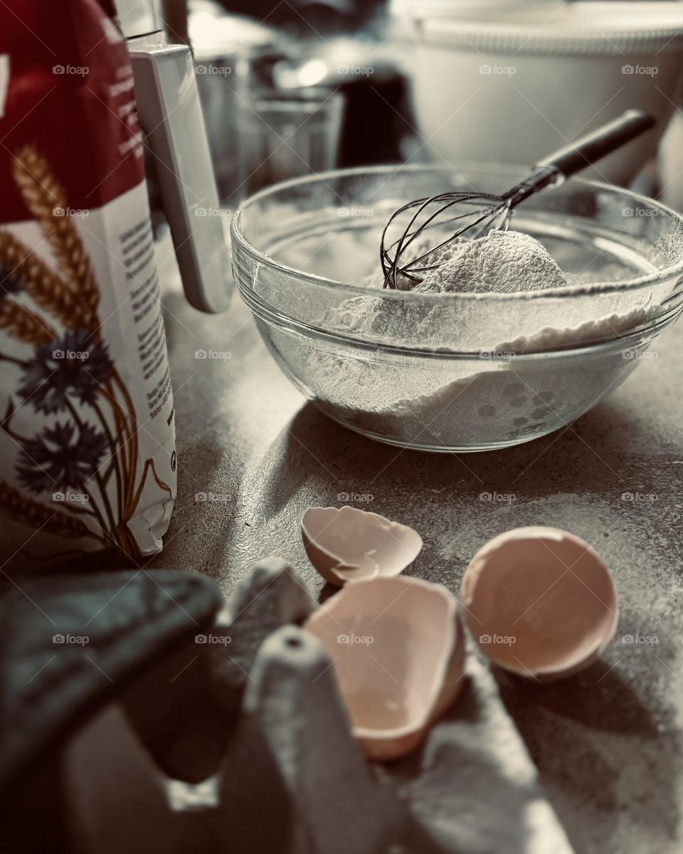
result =
[[[0,559],[159,551],[174,439],[114,8],[0,3]]]

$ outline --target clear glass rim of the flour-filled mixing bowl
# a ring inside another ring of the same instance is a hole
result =
[[[455,172],[459,173],[461,170],[466,170],[467,168],[471,168],[476,170],[480,169],[482,172],[491,172],[491,173],[505,173],[505,170],[514,170],[514,169],[528,169],[528,167],[522,167],[521,164],[518,163],[503,163],[503,164],[492,164],[486,163],[484,161],[458,161],[457,164],[454,164],[452,168],[440,166],[438,164],[382,164],[382,166],[372,166],[372,167],[352,167],[347,169],[330,169],[327,172],[313,173],[312,175],[304,175],[299,178],[289,178],[287,181],[279,181],[277,184],[271,184],[271,186],[264,188],[263,190],[259,190],[254,193],[252,196],[248,196],[248,198],[244,199],[239,207],[236,209],[235,215],[231,219],[231,243],[232,243],[232,251],[233,253],[236,251],[236,247],[239,248],[239,252],[247,254],[252,260],[260,263],[263,266],[270,267],[271,269],[277,270],[279,272],[283,272],[288,276],[292,276],[294,278],[303,279],[310,284],[316,284],[319,287],[324,287],[326,289],[334,289],[337,293],[340,290],[352,296],[367,296],[369,295],[369,291],[371,290],[371,294],[373,296],[381,297],[383,299],[394,299],[399,301],[421,301],[421,302],[434,302],[436,304],[447,305],[448,303],[457,303],[462,300],[466,301],[520,301],[520,300],[543,300],[543,299],[565,299],[565,298],[573,298],[578,295],[590,295],[593,293],[599,293],[600,295],[609,294],[622,290],[637,290],[639,288],[647,287],[651,284],[656,284],[659,281],[663,281],[666,278],[672,278],[674,276],[680,275],[683,273],[683,256],[681,256],[680,261],[677,264],[666,267],[664,270],[658,270],[656,272],[647,273],[642,276],[638,276],[636,278],[629,278],[626,280],[620,280],[619,282],[595,282],[595,283],[587,283],[587,284],[567,284],[557,288],[546,288],[544,290],[524,290],[517,291],[514,293],[499,293],[497,291],[484,291],[477,293],[439,293],[439,294],[423,294],[416,293],[412,290],[387,290],[387,289],[368,289],[363,285],[358,284],[350,284],[347,282],[342,282],[336,279],[327,278],[324,276],[317,276],[313,273],[307,273],[303,270],[299,270],[296,267],[288,266],[282,264],[279,261],[276,261],[271,258],[270,255],[261,252],[260,249],[256,249],[252,243],[249,243],[247,237],[244,235],[242,218],[243,213],[255,203],[261,202],[264,199],[267,199],[268,196],[274,196],[276,193],[287,190],[291,187],[301,187],[306,184],[315,184],[315,183],[325,183],[326,180],[332,180],[335,178],[343,178],[347,176],[353,175],[379,175],[382,174],[391,174],[391,177],[394,177],[396,173],[406,172],[406,173],[418,173],[418,172]],[[604,181],[595,181],[591,178],[569,178],[565,184],[581,184],[583,186],[591,187],[598,190],[607,190],[612,193],[619,193],[622,196],[628,196],[629,199],[633,200],[633,202],[640,202],[645,204],[649,208],[657,209],[659,213],[664,213],[670,219],[674,219],[678,221],[681,230],[683,231],[683,214],[674,211],[673,208],[668,208],[667,205],[664,205],[662,202],[657,202],[655,199],[651,199],[649,196],[643,196],[639,193],[634,193],[633,190],[628,190],[626,187],[620,187],[616,184],[608,184]],[[250,289],[251,290],[251,289]],[[254,291],[254,294],[256,292]],[[262,300],[262,296],[256,294],[257,299],[259,301]]]

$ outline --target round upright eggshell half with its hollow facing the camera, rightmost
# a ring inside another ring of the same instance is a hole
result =
[[[538,681],[596,661],[616,631],[610,572],[581,537],[557,528],[506,531],[465,570],[460,600],[488,658]]]

